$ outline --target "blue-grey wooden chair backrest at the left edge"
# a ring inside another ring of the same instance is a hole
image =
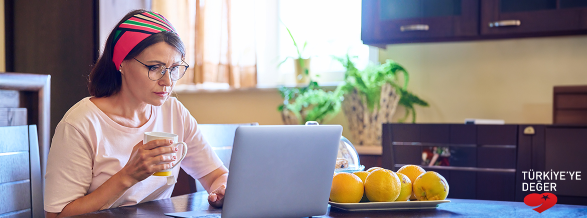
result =
[[[45,217],[36,125],[0,127],[0,217]]]

